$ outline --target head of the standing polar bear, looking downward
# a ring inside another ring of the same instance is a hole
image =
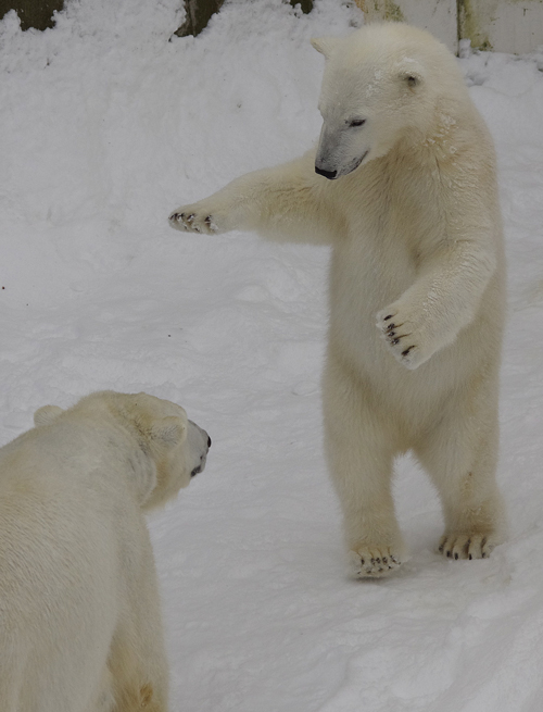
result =
[[[323,37],[312,45],[327,60],[315,161],[326,178],[352,173],[402,139],[425,140],[440,103],[466,98],[451,52],[409,25],[368,25],[344,39]]]

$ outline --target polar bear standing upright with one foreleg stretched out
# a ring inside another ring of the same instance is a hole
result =
[[[178,208],[171,225],[331,245],[325,449],[355,575],[390,574],[405,558],[391,476],[407,450],[441,497],[439,550],[484,558],[505,535],[492,139],[428,33],[368,25],[313,46],[326,58],[316,150]]]

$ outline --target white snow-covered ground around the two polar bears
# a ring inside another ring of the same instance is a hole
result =
[[[404,459],[412,558],[354,582],[321,452],[327,250],[194,238],[167,215],[311,146],[308,39],[362,15],[231,0],[168,41],[180,5],[74,0],[42,34],[0,23],[0,441],[103,388],[178,401],[210,432],[206,471],[150,523],[172,711],[540,712],[543,54],[460,60],[501,167],[510,539],[443,560],[438,499]]]

